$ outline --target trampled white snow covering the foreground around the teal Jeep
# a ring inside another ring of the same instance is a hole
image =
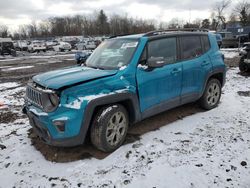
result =
[[[144,134],[102,160],[49,162],[31,145],[26,118],[0,123],[0,187],[250,187],[250,97],[238,94],[250,91],[250,78],[237,72],[228,71],[216,109]],[[7,96],[20,90],[1,92],[0,100],[15,105]]]

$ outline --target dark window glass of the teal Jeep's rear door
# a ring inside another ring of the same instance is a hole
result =
[[[192,59],[202,55],[200,36],[181,37],[182,59]]]

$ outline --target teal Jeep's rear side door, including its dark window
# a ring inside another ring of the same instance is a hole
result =
[[[206,49],[204,45],[206,41]],[[200,96],[212,64],[207,51],[210,49],[207,35],[180,37],[183,82],[181,100],[183,103],[197,100]]]

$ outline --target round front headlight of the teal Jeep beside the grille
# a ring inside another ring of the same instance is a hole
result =
[[[45,112],[53,112],[59,105],[59,97],[56,93],[44,93],[43,109]]]

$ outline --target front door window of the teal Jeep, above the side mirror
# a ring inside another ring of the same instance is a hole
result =
[[[167,63],[176,62],[176,51],[176,37],[154,40],[148,44],[148,58],[162,57]]]

